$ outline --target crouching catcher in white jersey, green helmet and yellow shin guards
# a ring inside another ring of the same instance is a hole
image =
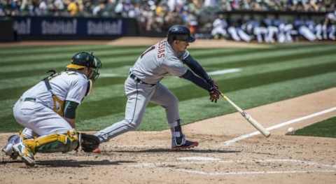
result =
[[[99,139],[75,130],[76,108],[90,94],[92,82],[99,77],[102,63],[89,52],[78,52],[66,70],[53,73],[27,90],[13,107],[15,120],[25,127],[20,135],[12,135],[3,152],[22,158],[34,166],[36,153],[66,153],[82,145],[91,152]]]

